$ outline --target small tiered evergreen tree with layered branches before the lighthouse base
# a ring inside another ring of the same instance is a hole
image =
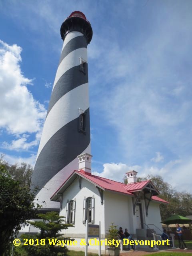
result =
[[[64,216],[59,216],[57,212],[46,212],[46,214],[38,214],[38,217],[43,221],[30,222],[33,226],[40,229],[40,233],[34,236],[22,235],[23,238],[36,239],[38,243],[43,243],[44,246],[23,246],[28,253],[28,256],[66,256],[68,249],[66,246],[56,246],[56,240],[69,240],[69,238],[63,238],[60,234],[61,230],[73,227],[71,224],[65,224]],[[42,240],[43,239],[43,240]],[[52,244],[50,245],[50,241]]]

